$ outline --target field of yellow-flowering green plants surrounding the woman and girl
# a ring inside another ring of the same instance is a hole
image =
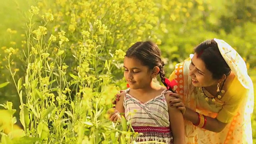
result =
[[[122,62],[137,41],[158,44],[168,76],[194,46],[223,39],[244,58],[256,88],[255,8],[240,0],[3,2],[1,143],[131,143],[137,134],[129,123],[110,122],[106,111],[126,89]]]

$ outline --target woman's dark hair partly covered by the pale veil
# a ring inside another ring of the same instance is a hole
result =
[[[231,69],[220,54],[218,44],[214,40],[206,40],[196,46],[194,52],[201,58],[206,68],[212,72],[212,77],[221,79],[223,74],[229,76]]]

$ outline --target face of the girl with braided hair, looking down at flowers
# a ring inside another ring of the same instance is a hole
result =
[[[136,58],[124,57],[124,78],[131,89],[142,89],[150,86],[153,78],[147,66],[142,65]]]

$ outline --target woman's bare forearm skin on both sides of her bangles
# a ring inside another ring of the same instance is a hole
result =
[[[187,107],[186,107],[186,112],[184,114],[184,119],[189,120],[193,124],[197,124],[199,122],[197,112]],[[226,123],[222,123],[218,121],[216,118],[211,118],[209,116],[206,116],[206,119],[207,121],[204,126],[204,129],[206,130],[210,130],[212,132],[221,132],[226,126]]]

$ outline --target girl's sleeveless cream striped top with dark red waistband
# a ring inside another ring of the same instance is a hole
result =
[[[131,122],[135,132],[143,133],[142,136],[136,138],[136,141],[158,141],[172,144],[168,104],[164,96],[171,91],[163,90],[160,95],[142,103],[128,94],[129,90],[130,88],[125,90],[124,96],[125,117]]]

